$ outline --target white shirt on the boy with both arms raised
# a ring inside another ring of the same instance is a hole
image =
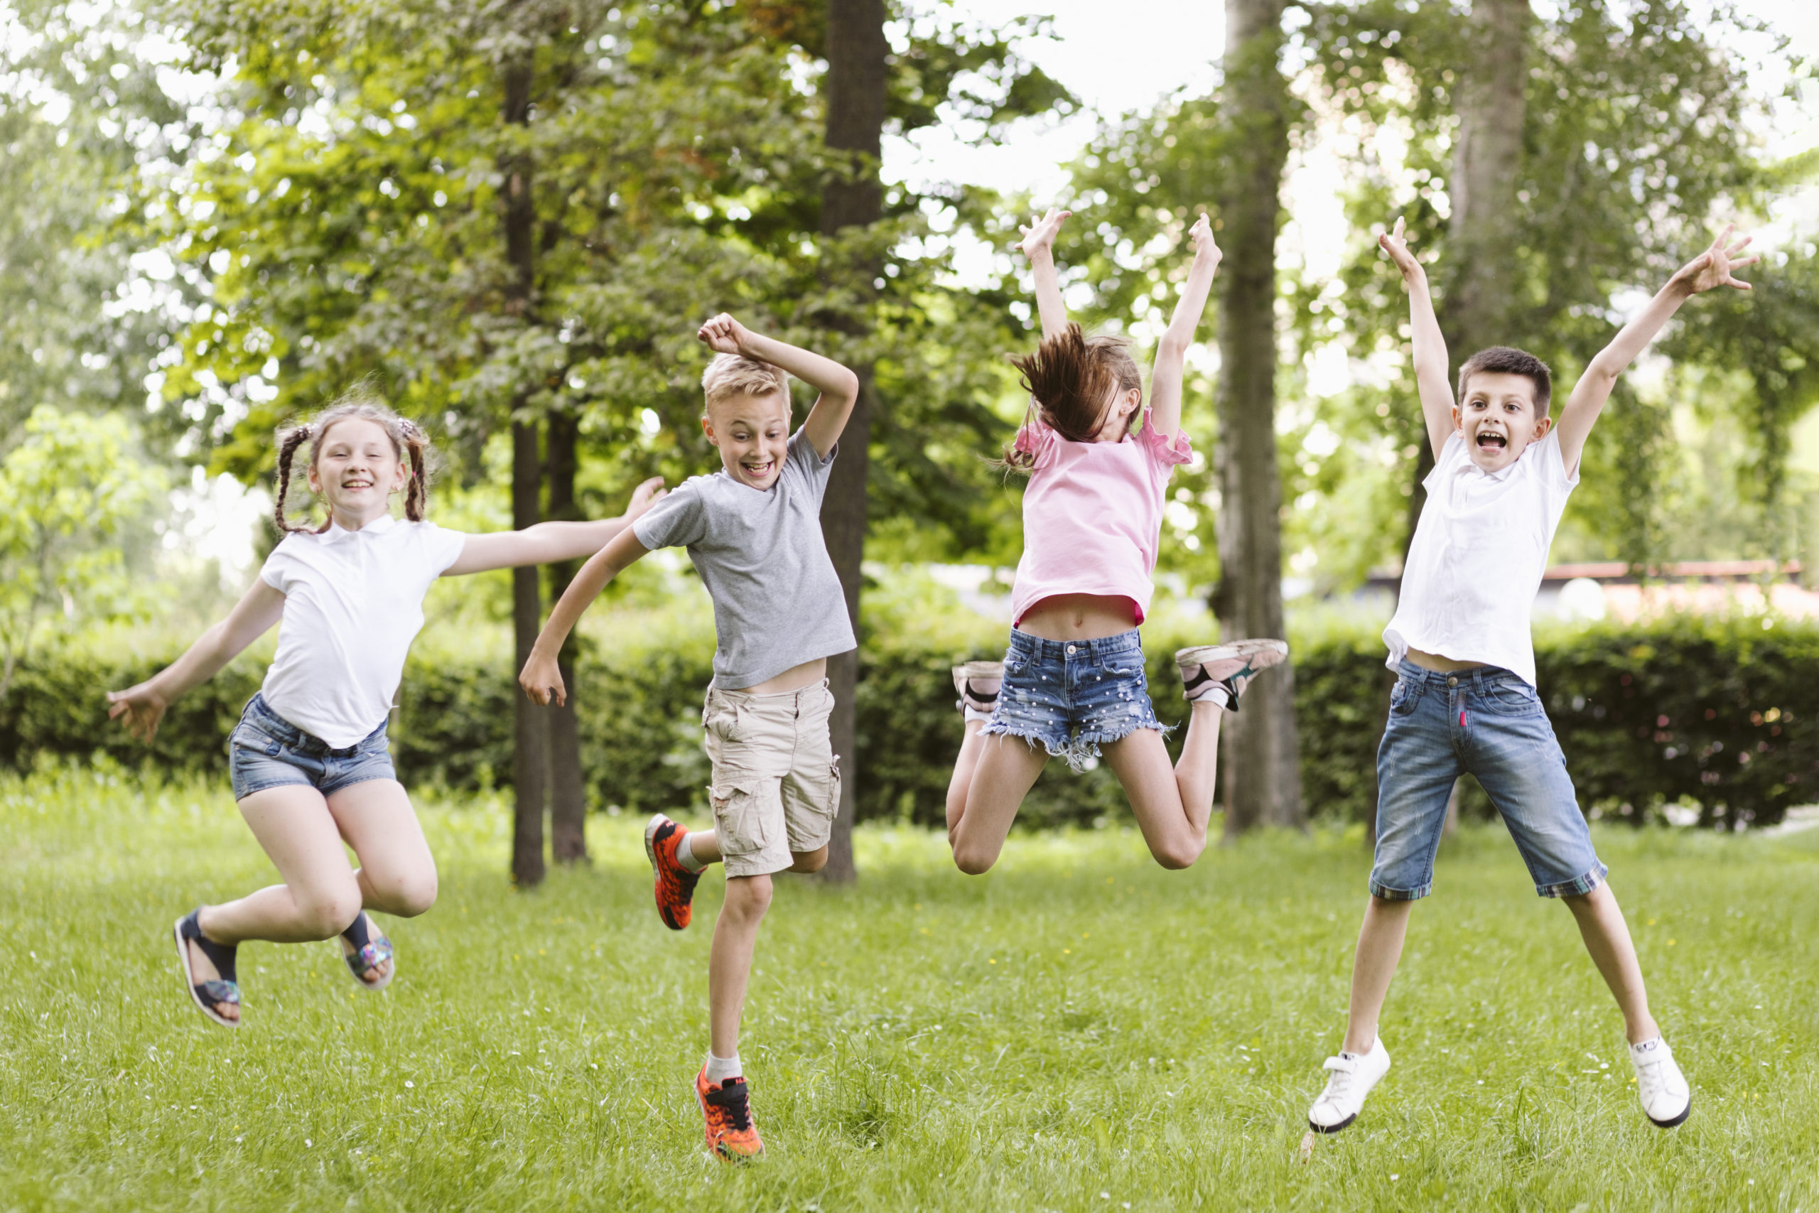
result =
[[[1402,598],[1382,631],[1390,669],[1421,649],[1499,666],[1535,686],[1530,613],[1553,531],[1579,486],[1561,462],[1559,431],[1488,473],[1455,429],[1422,484],[1428,500],[1408,546]]]

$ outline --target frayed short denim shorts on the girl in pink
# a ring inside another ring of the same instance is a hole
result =
[[[1004,689],[986,722],[986,737],[1042,742],[1075,771],[1099,746],[1137,729],[1166,733],[1150,706],[1137,629],[1099,640],[1042,640],[1011,627],[1004,653]]]

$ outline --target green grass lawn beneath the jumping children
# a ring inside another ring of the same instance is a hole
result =
[[[1819,831],[1603,829],[1693,1115],[1652,1128],[1564,907],[1501,829],[1448,844],[1359,1124],[1299,1160],[1368,855],[1271,837],[1166,873],[1119,829],[995,873],[864,829],[782,878],[742,1055],[768,1157],[708,1158],[708,937],[657,920],[640,822],[522,895],[497,802],[431,804],[442,900],[362,995],[331,944],[186,997],[171,920],[271,878],[226,787],[0,780],[0,1206],[67,1209],[1650,1209],[1819,1206]]]

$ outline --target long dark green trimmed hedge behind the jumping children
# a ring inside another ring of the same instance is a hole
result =
[[[859,684],[860,818],[942,820],[959,717],[948,669],[988,657],[979,638],[919,642],[910,629],[868,638]],[[1157,715],[1181,724],[1170,653],[1193,637],[1148,631]],[[984,635],[984,633],[975,633]],[[704,809],[708,760],[700,697],[708,644],[675,633],[582,653],[582,760],[595,807],[648,813]],[[235,662],[173,706],[147,753],[107,722],[102,687],[149,677],[175,653],[69,651],[15,677],[0,704],[0,760],[107,753],[202,773],[226,771],[227,733],[258,687],[264,660]],[[1819,800],[1819,627],[1763,617],[1668,617],[1637,627],[1548,633],[1535,647],[1541,691],[1588,811],[1632,822],[1666,806],[1708,826],[1763,826]],[[1313,817],[1366,820],[1375,746],[1393,675],[1373,635],[1295,642],[1302,791]],[[393,726],[400,778],[449,789],[511,782],[509,657],[422,649],[406,667]],[[1171,738],[1171,749],[1179,746]],[[1466,811],[1488,813],[1482,791]],[[1073,777],[1050,764],[1026,804],[1033,826],[1128,813],[1104,767]]]

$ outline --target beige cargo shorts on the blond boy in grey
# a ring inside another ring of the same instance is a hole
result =
[[[828,846],[840,811],[831,711],[826,678],[779,695],[708,691],[708,798],[728,877],[768,877],[789,867],[791,853]]]

